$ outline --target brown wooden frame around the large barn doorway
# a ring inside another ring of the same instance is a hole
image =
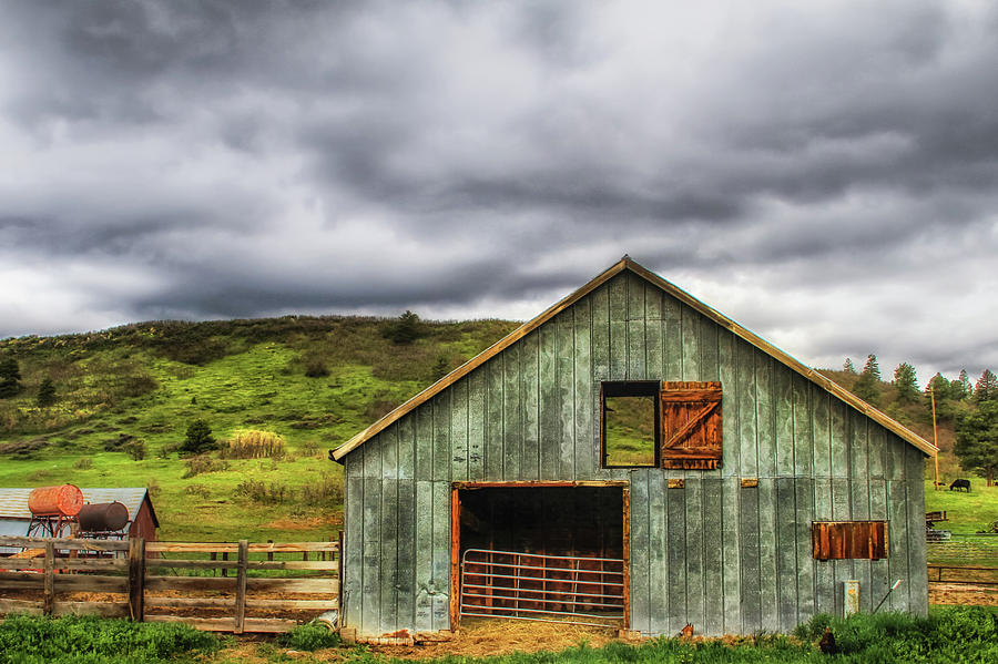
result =
[[[631,627],[631,483],[628,480],[517,480],[473,481],[450,483],[450,629],[456,630],[460,621],[461,603],[461,498],[460,491],[468,489],[554,489],[564,487],[618,487],[623,504],[623,629]]]

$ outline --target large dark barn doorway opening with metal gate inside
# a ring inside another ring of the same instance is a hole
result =
[[[455,617],[625,626],[624,487],[455,491]]]

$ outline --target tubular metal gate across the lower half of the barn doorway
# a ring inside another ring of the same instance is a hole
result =
[[[468,549],[460,614],[623,626],[624,561]]]

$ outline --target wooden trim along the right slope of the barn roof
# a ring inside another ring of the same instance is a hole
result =
[[[706,316],[707,318],[710,318],[711,320],[713,320],[714,323],[716,323],[717,325],[723,327],[724,329],[729,330],[730,333],[734,334],[737,337],[741,337],[742,339],[748,341],[750,344],[752,344],[753,346],[755,346],[763,353],[780,360],[786,367],[793,369],[794,371],[796,371],[804,378],[807,378],[812,382],[816,384],[818,387],[827,390],[833,396],[845,401],[846,403],[848,403],[849,406],[852,406],[853,408],[855,408],[863,415],[867,416],[875,422],[883,426],[888,431],[897,433],[900,438],[905,439],[906,441],[908,441],[909,443],[912,443],[913,446],[915,446],[916,448],[918,448],[926,454],[931,457],[931,456],[935,456],[936,452],[939,451],[936,446],[934,446],[933,443],[930,443],[929,441],[924,439],[921,436],[912,431],[910,429],[908,429],[907,427],[905,427],[904,425],[902,425],[900,422],[898,422],[890,416],[886,415],[885,412],[877,410],[876,408],[874,408],[873,406],[870,406],[869,403],[867,403],[866,401],[864,401],[863,399],[860,399],[859,397],[857,397],[856,395],[851,392],[849,390],[845,389],[844,387],[842,387],[841,385],[838,385],[837,382],[835,382],[827,376],[824,376],[824,375],[819,374],[818,371],[812,369],[811,367],[808,367],[804,362],[800,361],[795,357],[791,356],[787,353],[784,353],[776,346],[773,346],[772,344],[770,344],[768,341],[766,341],[765,339],[763,339],[762,337],[760,337],[752,330],[750,330],[745,327],[742,327],[741,325],[739,325],[737,323],[735,323],[734,320],[732,320],[724,314],[717,311],[713,307],[710,307],[710,306],[703,304],[702,302],[700,302],[699,299],[696,299],[695,297],[693,297],[685,290],[666,282],[665,279],[663,279],[655,273],[645,269],[644,267],[634,263],[630,258],[625,258],[625,261],[628,262],[628,268],[631,269],[632,272],[644,277],[652,284],[655,284],[656,286],[659,286],[660,288],[662,288],[663,290],[665,290],[666,293],[669,293],[670,295],[672,295],[673,297],[679,299],[680,302],[696,309],[697,311],[700,311],[701,314],[703,314],[704,316]]]

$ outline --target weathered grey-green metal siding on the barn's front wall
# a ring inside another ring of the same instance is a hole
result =
[[[720,380],[712,471],[599,468],[601,380]],[[632,627],[787,631],[841,611],[925,613],[923,456],[637,275],[624,273],[345,458],[346,624],[449,629],[450,482],[627,479]],[[685,480],[668,489],[670,478]],[[741,478],[758,478],[741,488]],[[882,561],[811,558],[812,520],[888,519]]]

